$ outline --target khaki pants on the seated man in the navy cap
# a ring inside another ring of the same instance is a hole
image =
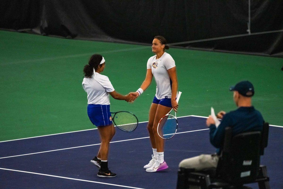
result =
[[[219,156],[216,154],[201,154],[200,156],[182,160],[179,163],[179,167],[201,171],[203,169],[216,168],[218,160]]]

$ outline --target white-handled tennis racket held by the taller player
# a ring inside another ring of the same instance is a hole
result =
[[[180,99],[182,92],[178,92],[177,96],[177,103]],[[173,108],[170,110],[170,112],[173,110]],[[162,139],[171,139],[175,133],[177,132],[178,128],[178,121],[176,118],[176,112],[175,116],[171,115],[170,112],[163,116],[157,126],[157,133]]]

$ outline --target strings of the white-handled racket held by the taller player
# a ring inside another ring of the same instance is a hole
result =
[[[174,116],[167,115],[162,118],[158,125],[158,133],[164,139],[170,139],[176,133],[177,120]]]

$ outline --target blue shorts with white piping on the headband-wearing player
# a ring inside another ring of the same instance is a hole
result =
[[[87,115],[90,121],[97,127],[112,124],[110,105],[88,104]]]

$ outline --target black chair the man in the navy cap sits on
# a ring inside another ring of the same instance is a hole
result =
[[[269,124],[263,131],[240,133],[232,137],[232,129],[225,129],[223,150],[216,169],[194,172],[180,168],[177,189],[198,186],[201,189],[242,189],[244,184],[258,182],[260,189],[269,189],[269,177],[265,165],[260,165],[260,156],[267,147]],[[195,188],[195,187],[194,187]]]

